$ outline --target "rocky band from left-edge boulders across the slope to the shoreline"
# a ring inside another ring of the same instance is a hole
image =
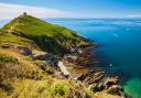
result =
[[[118,85],[119,77],[113,76],[106,78],[104,70],[88,68],[89,65],[95,66],[100,64],[99,62],[91,61],[96,57],[91,54],[91,51],[97,47],[91,41],[89,45],[75,47],[75,52],[66,54],[63,57],[51,55],[47,52],[30,50],[21,45],[2,44],[0,47],[6,50],[19,50],[22,55],[30,56],[33,59],[44,61],[45,63],[42,65],[43,69],[46,67],[46,62],[50,62],[50,65],[56,67],[64,78],[72,78],[82,84],[86,84],[94,92],[107,90],[107,92],[111,95],[124,96],[123,88]],[[53,72],[50,72],[50,74],[52,73]]]

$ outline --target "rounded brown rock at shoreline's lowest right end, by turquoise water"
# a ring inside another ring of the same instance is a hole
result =
[[[107,92],[110,95],[123,96],[123,88],[121,86],[113,85],[113,86],[109,87]]]

